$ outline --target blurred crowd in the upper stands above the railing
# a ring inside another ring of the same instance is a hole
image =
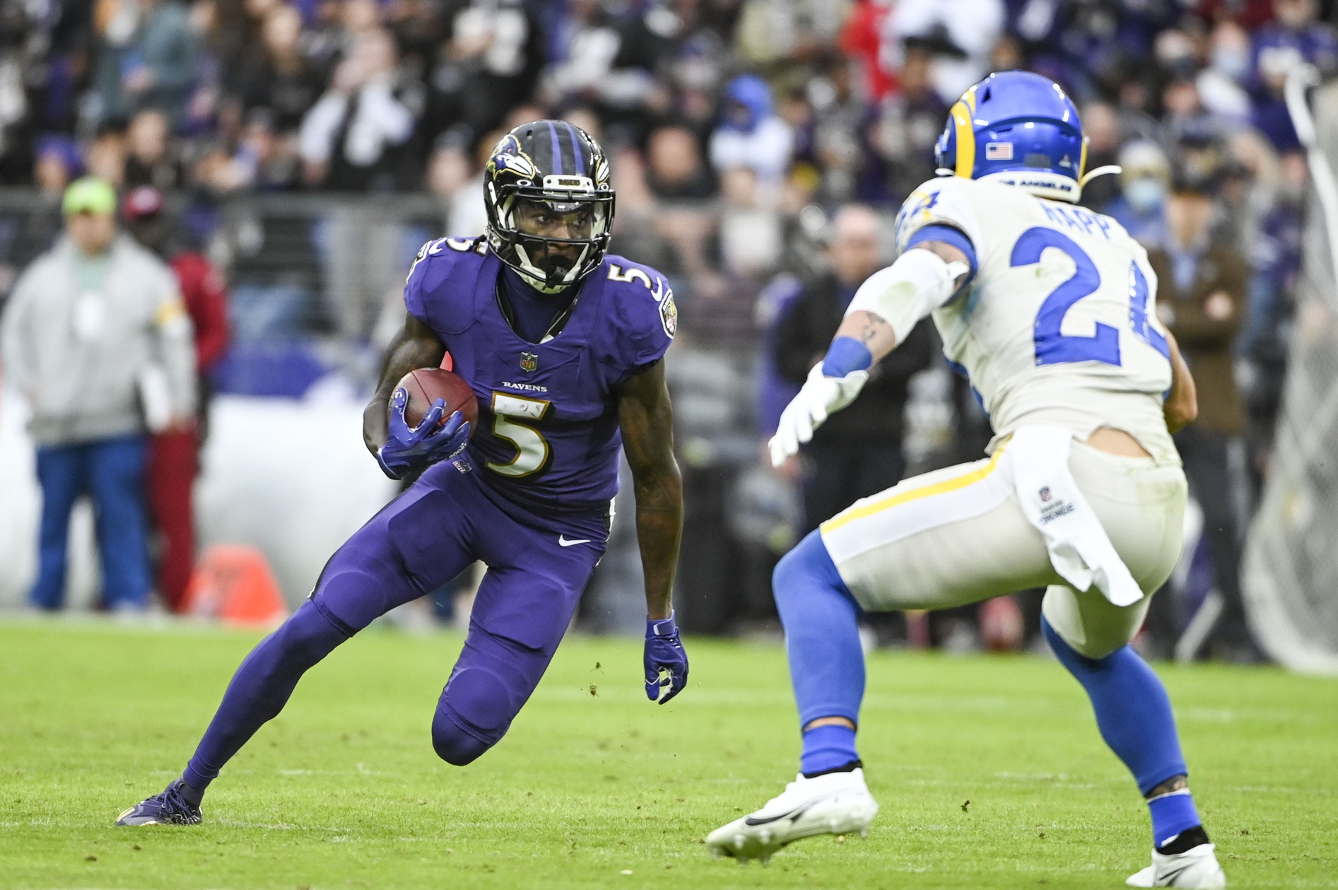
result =
[[[636,153],[625,173],[653,197],[892,206],[933,175],[962,90],[1026,67],[1084,106],[1089,163],[1132,139],[1172,153],[1215,142],[1275,187],[1271,162],[1297,149],[1282,79],[1297,60],[1338,64],[1321,12],[1317,0],[21,0],[0,20],[0,177],[452,197],[499,128],[557,114]]]

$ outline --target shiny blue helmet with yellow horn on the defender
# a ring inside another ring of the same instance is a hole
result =
[[[1077,202],[1082,186],[1119,167],[1085,173],[1086,137],[1060,84],[1030,71],[999,71],[962,94],[934,147],[942,175],[1018,186]]]

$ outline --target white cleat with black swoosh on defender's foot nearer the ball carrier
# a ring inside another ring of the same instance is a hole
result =
[[[864,771],[828,772],[795,778],[784,794],[772,798],[757,812],[735,819],[706,835],[706,847],[717,858],[771,859],[787,843],[815,834],[868,836],[868,824],[878,814],[878,802],[864,784]]]

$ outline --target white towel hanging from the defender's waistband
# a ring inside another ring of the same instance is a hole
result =
[[[1115,551],[1092,505],[1069,471],[1073,432],[1044,424],[1020,427],[1008,443],[1009,468],[1028,522],[1045,538],[1050,565],[1077,590],[1092,585],[1117,606],[1143,590]]]

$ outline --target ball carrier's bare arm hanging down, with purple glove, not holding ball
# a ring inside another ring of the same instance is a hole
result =
[[[673,575],[682,537],[682,478],[673,456],[673,407],[661,359],[618,389],[618,426],[637,499],[637,543],[646,585],[646,696],[660,703],[688,683],[688,656],[673,621]],[[661,680],[660,673],[668,673]]]

